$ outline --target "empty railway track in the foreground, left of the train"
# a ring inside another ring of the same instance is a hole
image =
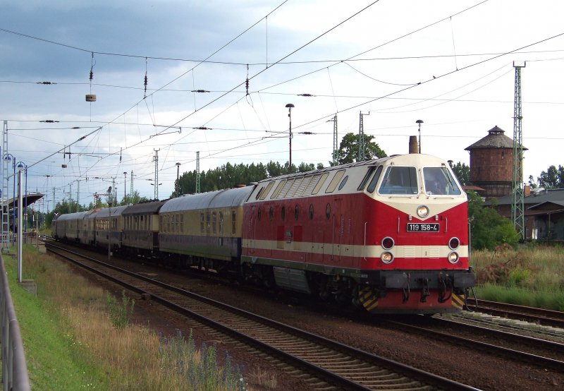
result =
[[[48,251],[212,327],[302,374],[312,389],[475,390],[47,243]],[[71,254],[71,255],[68,255]],[[82,258],[77,260],[76,258]],[[93,265],[87,265],[92,263]]]

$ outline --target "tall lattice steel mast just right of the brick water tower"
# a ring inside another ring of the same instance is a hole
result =
[[[511,205],[511,219],[515,231],[525,240],[525,207],[523,191],[523,133],[521,112],[521,68],[525,64],[515,65],[515,109],[513,112],[513,203]]]

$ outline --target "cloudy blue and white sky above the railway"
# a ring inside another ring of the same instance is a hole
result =
[[[7,152],[49,209],[53,189],[56,202],[79,191],[88,204],[115,181],[121,199],[132,171],[152,198],[157,153],[161,199],[197,151],[201,170],[283,164],[288,103],[294,164],[327,165],[329,120],[341,138],[358,132],[361,111],[388,155],[407,152],[421,119],[422,152],[468,164],[464,148],[490,128],[513,138],[513,65],[525,61],[525,179],[564,164],[562,1],[2,3]]]

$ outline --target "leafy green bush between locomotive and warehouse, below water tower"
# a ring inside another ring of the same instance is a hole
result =
[[[468,191],[467,194],[472,248],[493,250],[503,243],[516,248],[520,237],[510,220],[501,216],[495,205],[484,207],[482,197],[474,191]]]

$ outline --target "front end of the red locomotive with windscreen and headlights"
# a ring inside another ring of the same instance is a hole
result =
[[[459,311],[474,286],[467,197],[443,160],[401,155],[365,181],[366,257],[358,299],[370,312]]]

